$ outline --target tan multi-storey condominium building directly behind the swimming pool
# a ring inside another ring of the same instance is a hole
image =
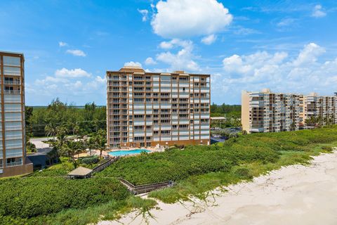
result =
[[[107,71],[110,148],[210,143],[210,76]]]

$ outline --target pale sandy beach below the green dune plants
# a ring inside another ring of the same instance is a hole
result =
[[[309,166],[293,165],[252,182],[215,190],[207,202],[160,203],[149,224],[337,224],[337,152]],[[146,224],[136,212],[107,224]],[[136,218],[135,218],[136,217]]]

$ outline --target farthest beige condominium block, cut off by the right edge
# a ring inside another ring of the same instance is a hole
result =
[[[322,124],[325,124],[326,120],[337,123],[336,105],[337,96],[318,96],[317,93],[310,93],[304,98],[303,122],[310,117],[319,117]]]

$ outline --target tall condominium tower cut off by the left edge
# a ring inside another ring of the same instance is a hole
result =
[[[0,177],[33,171],[25,150],[25,79],[22,53],[0,52]]]

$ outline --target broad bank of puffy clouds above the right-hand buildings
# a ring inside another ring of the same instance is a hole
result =
[[[322,62],[319,56],[324,52],[322,46],[310,43],[296,56],[282,51],[257,51],[223,58],[223,71],[211,76],[213,99],[226,95],[238,103],[243,89],[259,91],[265,87],[272,91],[302,94],[321,91],[332,95],[336,89],[337,58]]]

